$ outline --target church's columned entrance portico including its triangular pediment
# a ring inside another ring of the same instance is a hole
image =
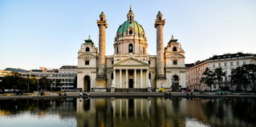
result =
[[[148,89],[148,63],[135,58],[128,58],[113,65],[112,90],[114,89]],[[116,91],[116,90],[115,90]]]

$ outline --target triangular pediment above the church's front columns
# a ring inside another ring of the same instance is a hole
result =
[[[123,61],[117,62],[116,64],[114,64],[113,66],[148,66],[147,63],[145,62],[141,62],[135,58],[128,58],[125,59]]]

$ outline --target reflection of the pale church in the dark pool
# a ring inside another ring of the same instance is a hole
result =
[[[185,110],[181,109],[185,106],[185,100],[180,99],[175,103],[161,98],[78,99],[77,126],[184,125],[181,117]]]

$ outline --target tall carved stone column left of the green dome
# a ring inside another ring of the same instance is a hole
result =
[[[98,58],[98,71],[96,77],[95,90],[106,91],[107,77],[106,77],[106,28],[108,23],[104,12],[100,14],[100,20],[97,20],[99,26],[99,58]]]

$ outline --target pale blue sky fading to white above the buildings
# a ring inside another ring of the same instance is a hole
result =
[[[255,0],[0,0],[0,69],[58,69],[77,65],[77,52],[91,36],[99,46],[104,11],[107,55],[130,5],[144,27],[148,54],[156,55],[156,14],[165,19],[164,45],[172,34],[185,50],[185,63],[214,54],[256,54]]]

